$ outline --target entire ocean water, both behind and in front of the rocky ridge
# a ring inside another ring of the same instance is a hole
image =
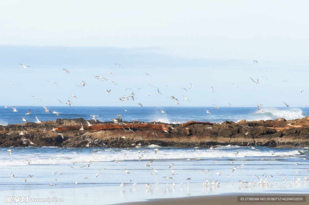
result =
[[[0,108],[3,125],[22,123],[20,117],[26,117],[28,121],[35,121],[35,116],[41,121],[46,121],[57,118],[80,117],[90,120],[92,117],[88,115],[100,115],[102,116],[98,117],[100,121],[110,121],[117,114],[121,114],[124,121],[130,121],[134,118],[145,122],[176,123],[177,121],[187,122],[190,120],[237,122],[243,119],[251,121],[279,117],[295,119],[308,115],[308,113],[302,113],[307,108],[262,107],[261,110],[265,111],[264,113],[255,107],[220,107],[220,109],[217,109],[213,107],[47,106],[50,110],[61,112],[60,117],[58,117],[56,114],[44,113],[43,107],[16,106],[15,108],[18,110],[17,113],[12,112],[13,109],[11,108]],[[29,109],[31,109],[32,114],[25,116],[24,114]],[[158,109],[167,111],[168,115],[164,115]],[[206,113],[206,109],[210,111],[211,115]],[[281,112],[289,115],[289,117]],[[159,148],[157,154],[155,154],[155,148]],[[84,203],[115,204],[145,201],[147,199],[228,193],[307,193],[309,188],[307,179],[307,176],[309,176],[309,149],[307,147],[269,148],[256,146],[255,148],[259,150],[246,146],[230,145],[217,146],[214,150],[200,148],[195,151],[192,148],[159,147],[157,145],[142,146],[140,149],[0,148],[0,195],[63,198],[66,204],[76,205]],[[9,156],[8,149],[12,150],[11,156]],[[139,154],[138,150],[142,152]],[[74,154],[73,151],[78,154]],[[95,155],[93,151],[95,151]],[[143,151],[146,152],[143,153]],[[235,156],[234,153],[237,152],[239,154]],[[39,153],[40,156],[35,155],[36,153]],[[128,156],[127,158],[124,157],[125,154]],[[144,155],[139,161],[141,154]],[[115,162],[116,160],[122,162]],[[88,167],[90,161],[91,164]],[[153,161],[152,165],[145,166],[151,161]],[[73,162],[76,163],[73,164]],[[172,175],[173,173],[169,169],[170,164],[173,164],[171,168],[175,175]],[[232,167],[235,166],[237,169],[233,172]],[[125,168],[130,174],[125,173]],[[154,172],[154,169],[158,172]],[[203,170],[205,169],[210,171],[204,173]],[[52,174],[53,172],[57,173]],[[11,178],[11,173],[15,175],[15,178]],[[98,173],[100,175],[96,177]],[[254,177],[254,174],[258,178]],[[28,177],[28,175],[32,175],[32,177]],[[171,178],[165,180],[164,177]],[[287,177],[286,181],[284,181],[285,177]],[[27,179],[27,181],[25,182],[22,179]],[[204,182],[210,182],[205,179],[220,183],[203,185]],[[129,182],[129,180],[132,181]],[[244,180],[251,184],[240,184],[239,181],[243,182]],[[262,180],[262,183],[258,184],[260,180]],[[76,182],[77,184],[75,184]],[[155,182],[158,182],[158,184],[155,184]],[[56,186],[49,186],[50,183]],[[121,183],[125,183],[125,187],[120,186]],[[137,184],[133,186],[133,183]],[[151,184],[151,187],[144,186],[148,183]],[[175,183],[175,186],[173,186],[173,183]],[[183,184],[181,185],[181,183]],[[187,183],[189,184],[187,185]],[[51,202],[51,204],[56,203]],[[29,202],[29,204],[37,203]]]

